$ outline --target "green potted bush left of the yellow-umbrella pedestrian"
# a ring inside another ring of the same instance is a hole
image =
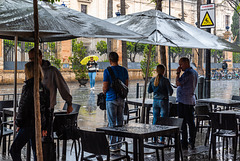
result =
[[[76,39],[72,40],[72,52],[73,55],[69,57],[70,62],[72,63],[72,70],[75,74],[75,79],[78,80],[80,86],[86,86],[88,82],[88,70],[86,65],[82,65],[81,60],[87,56],[87,50],[83,46],[83,42],[77,42]]]

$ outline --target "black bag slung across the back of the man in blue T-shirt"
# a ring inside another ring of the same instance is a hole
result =
[[[107,67],[107,69],[112,77],[111,87],[116,92],[117,96],[125,99],[128,95],[128,87],[120,79],[115,77],[111,67]]]

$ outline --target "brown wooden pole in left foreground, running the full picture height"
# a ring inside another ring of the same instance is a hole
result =
[[[39,23],[38,23],[38,0],[33,1],[34,9],[34,112],[35,112],[35,140],[36,156],[38,161],[43,161],[41,115],[39,97]]]

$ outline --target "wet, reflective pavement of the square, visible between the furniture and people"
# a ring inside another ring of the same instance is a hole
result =
[[[143,81],[130,81],[130,91],[128,98],[136,97],[136,84],[140,83],[143,85]],[[78,117],[78,125],[82,129],[87,130],[95,130],[97,127],[102,127],[107,125],[107,118],[105,111],[100,110],[96,106],[97,102],[97,94],[102,91],[102,82],[96,82],[95,90],[91,91],[89,87],[89,83],[86,87],[80,87],[78,83],[68,83],[69,88],[71,90],[71,94],[73,96],[73,103],[77,103],[81,105]],[[240,80],[220,80],[220,81],[212,81],[211,82],[211,97],[214,98],[225,98],[231,99],[232,95],[239,95],[239,87]],[[22,84],[18,85],[18,93],[21,93]],[[13,85],[1,85],[0,94],[2,93],[13,93]],[[174,96],[176,95],[176,91],[174,90]],[[58,94],[57,97],[57,105],[56,109],[61,109],[64,105],[64,100],[61,99],[61,96]],[[151,118],[150,118],[151,119]],[[151,120],[150,120],[151,122]],[[195,150],[184,150],[184,160],[208,160],[208,148],[209,146],[203,146],[205,139],[206,131],[203,130],[202,133],[197,133],[196,140],[196,149]],[[131,142],[131,140],[127,140]],[[72,141],[68,141],[67,147],[67,156],[66,160],[71,161],[75,160],[74,150],[72,154],[70,154]],[[224,155],[224,159],[222,158],[222,149],[219,148],[221,146],[217,146],[217,155],[216,159],[212,160],[232,160],[233,153],[231,149]],[[231,147],[231,145],[229,145]],[[60,149],[61,150],[61,149]],[[226,149],[225,149],[226,151]],[[0,152],[1,154],[1,152]],[[130,154],[131,155],[131,154]],[[161,152],[160,152],[161,155]],[[22,157],[25,158],[25,150],[22,152]],[[131,155],[132,157],[132,155]],[[0,155],[0,160],[11,160],[11,158],[7,156]],[[61,157],[59,160],[62,160]],[[146,154],[145,160],[156,160],[156,155]],[[174,160],[174,149],[165,150],[165,160]],[[240,152],[237,152],[237,160],[240,160]]]

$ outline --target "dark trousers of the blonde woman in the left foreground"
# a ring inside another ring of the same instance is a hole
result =
[[[13,161],[21,161],[21,150],[25,144],[30,141],[30,145],[33,150],[34,161],[37,161],[36,157],[36,143],[35,143],[35,128],[34,127],[23,127],[19,130],[16,138],[10,149],[10,154]]]

